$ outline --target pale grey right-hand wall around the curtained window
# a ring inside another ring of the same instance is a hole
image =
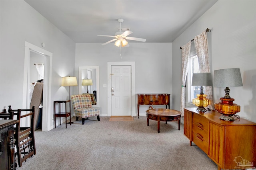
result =
[[[181,49],[206,28],[211,72],[240,68],[243,87],[230,87],[230,97],[241,106],[240,117],[256,122],[256,1],[219,0],[172,43],[172,100],[180,110]],[[224,97],[224,88],[213,88],[213,102]]]

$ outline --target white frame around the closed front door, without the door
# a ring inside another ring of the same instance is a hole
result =
[[[131,66],[132,76],[131,76],[131,111],[132,116],[136,116],[135,109],[135,61],[124,61],[124,62],[108,62],[107,71],[107,116],[111,116],[111,66]]]

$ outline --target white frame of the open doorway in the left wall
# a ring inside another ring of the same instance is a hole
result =
[[[30,55],[40,54],[44,56],[44,90],[42,107],[42,131],[50,131],[53,128],[53,115],[51,104],[51,79],[52,79],[52,53],[25,41],[23,101],[22,107],[30,107]],[[23,124],[22,124],[23,125]],[[26,125],[26,123],[25,123]]]

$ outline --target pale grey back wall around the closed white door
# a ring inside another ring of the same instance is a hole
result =
[[[103,88],[103,84],[107,84],[107,78],[109,78],[107,75],[108,61],[135,62],[136,93],[172,94],[172,43],[129,44],[130,47],[122,48],[122,59],[120,59],[120,48],[114,43],[104,46],[101,43],[76,43],[75,76],[78,77],[79,66],[99,66],[100,112],[102,114],[107,113],[107,88]],[[78,93],[78,87],[76,87],[76,92]],[[141,106],[140,113],[145,112],[147,108],[148,106]]]

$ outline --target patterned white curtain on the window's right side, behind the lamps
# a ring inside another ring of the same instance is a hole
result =
[[[198,56],[199,70],[200,72],[210,72],[210,63],[208,56],[208,41],[206,31],[200,35],[194,37],[196,54]],[[211,100],[211,104],[208,106],[210,109],[213,108],[212,104],[212,87],[205,87],[205,94],[207,98]]]

